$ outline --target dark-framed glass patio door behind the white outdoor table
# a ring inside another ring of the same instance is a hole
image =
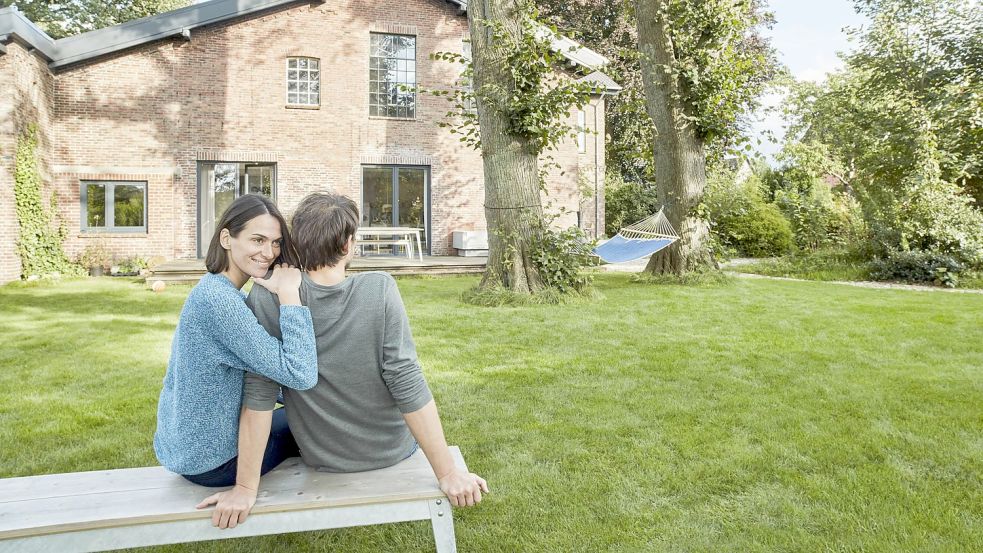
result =
[[[423,251],[430,251],[429,167],[362,167],[362,226],[421,229]]]

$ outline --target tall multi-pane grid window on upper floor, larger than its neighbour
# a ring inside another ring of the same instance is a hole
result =
[[[416,37],[371,34],[369,48],[369,115],[416,117]]]

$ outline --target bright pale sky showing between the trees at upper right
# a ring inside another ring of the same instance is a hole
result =
[[[775,25],[768,31],[772,45],[778,50],[779,61],[799,80],[822,81],[826,73],[843,67],[837,52],[852,48],[843,28],[864,23],[864,17],[853,10],[851,0],[770,0],[768,5],[775,14]],[[781,100],[780,95],[769,94],[763,103],[777,107]],[[769,141],[762,132],[769,129],[780,141],[784,123],[777,113],[759,113],[757,118],[752,136],[761,138],[757,149],[771,160],[780,145]]]

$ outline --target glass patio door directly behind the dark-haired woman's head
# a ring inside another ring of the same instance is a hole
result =
[[[233,200],[243,194],[276,195],[272,163],[198,163],[198,257],[205,257],[215,224]]]

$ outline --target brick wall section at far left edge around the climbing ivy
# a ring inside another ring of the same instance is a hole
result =
[[[32,123],[38,127],[41,178],[45,183],[51,182],[51,91],[52,76],[44,61],[18,43],[8,44],[7,53],[0,56],[0,212],[5,214],[0,217],[0,236],[3,237],[0,239],[0,283],[21,276],[16,245],[14,159],[17,138]],[[55,220],[53,224],[58,222]]]

